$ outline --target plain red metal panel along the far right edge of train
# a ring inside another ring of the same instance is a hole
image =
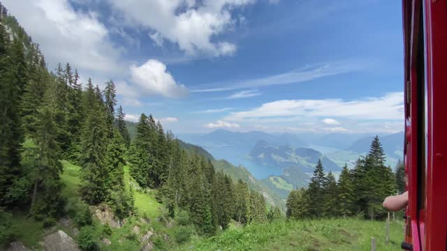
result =
[[[425,1],[427,50],[427,201],[425,250],[446,250],[447,241],[447,3]]]

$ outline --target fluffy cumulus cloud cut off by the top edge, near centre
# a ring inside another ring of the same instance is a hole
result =
[[[163,46],[166,40],[186,54],[231,55],[236,45],[217,36],[233,29],[231,10],[255,0],[108,0],[129,26],[149,30],[149,38]],[[149,39],[148,38],[148,39]]]

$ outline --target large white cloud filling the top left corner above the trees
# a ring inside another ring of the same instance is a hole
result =
[[[70,62],[91,72],[117,73],[119,49],[98,13],[74,10],[68,0],[3,0],[11,15],[41,45],[50,69]]]

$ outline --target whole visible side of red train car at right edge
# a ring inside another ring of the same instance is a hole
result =
[[[403,0],[405,250],[447,250],[447,0]]]

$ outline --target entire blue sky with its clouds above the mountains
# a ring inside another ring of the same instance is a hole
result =
[[[5,0],[48,66],[177,133],[403,129],[400,1]]]

